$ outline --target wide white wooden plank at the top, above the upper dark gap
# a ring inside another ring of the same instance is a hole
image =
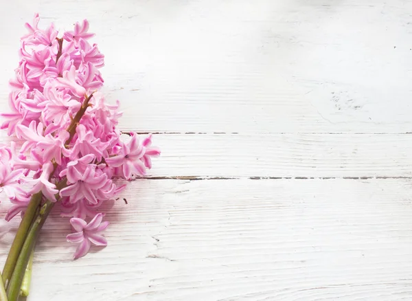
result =
[[[89,18],[123,129],[225,133],[411,131],[412,2],[3,3],[0,97],[23,22]],[[75,9],[76,7],[76,9]],[[3,108],[1,108],[3,109]]]

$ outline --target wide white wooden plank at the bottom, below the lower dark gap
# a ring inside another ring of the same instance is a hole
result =
[[[71,261],[67,219],[47,221],[30,300],[409,300],[410,188],[391,179],[135,181],[128,205],[120,199],[106,216],[100,252]]]

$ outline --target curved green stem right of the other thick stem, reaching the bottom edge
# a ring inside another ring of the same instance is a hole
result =
[[[36,217],[32,227],[27,233],[27,238],[23,244],[19,258],[17,259],[16,266],[14,267],[12,278],[10,279],[10,284],[8,285],[7,296],[8,301],[16,301],[19,298],[19,293],[21,289],[21,283],[23,282],[23,276],[27,263],[29,261],[30,254],[34,249],[38,233],[43,227],[47,216],[52,211],[54,203],[47,201],[44,207],[41,209],[40,214]]]

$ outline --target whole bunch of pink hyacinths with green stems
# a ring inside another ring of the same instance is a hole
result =
[[[1,129],[14,137],[0,146],[0,190],[12,204],[5,220],[20,216],[21,223],[2,270],[0,301],[27,296],[27,264],[57,202],[73,230],[62,243],[77,245],[74,259],[85,256],[93,245],[107,245],[100,209],[125,188],[118,179],[146,175],[160,155],[152,135],[121,136],[117,129],[122,113],[99,91],[104,55],[89,42],[89,22],[60,35],[53,24],[40,29],[39,20],[35,14],[25,24],[10,111],[1,114]]]

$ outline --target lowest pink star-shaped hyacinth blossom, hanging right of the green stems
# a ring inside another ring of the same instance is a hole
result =
[[[93,245],[104,247],[107,245],[106,238],[102,236],[102,232],[106,230],[108,221],[102,223],[103,216],[104,214],[102,213],[96,214],[90,223],[76,217],[70,219],[70,223],[76,232],[67,235],[67,241],[79,244],[74,254],[74,259],[86,255],[92,243]]]

